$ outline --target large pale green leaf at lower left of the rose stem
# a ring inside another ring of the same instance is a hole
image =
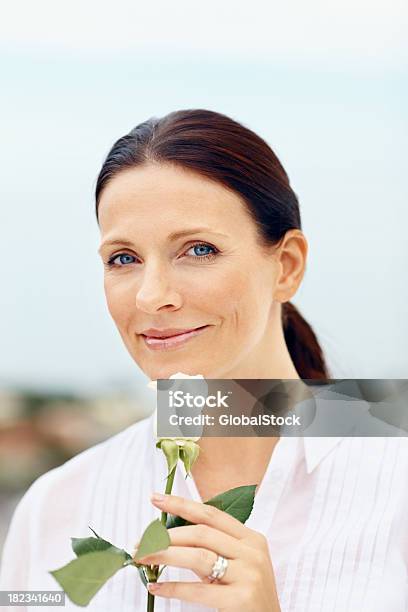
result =
[[[124,567],[125,561],[125,555],[110,549],[100,550],[83,554],[49,573],[73,603],[87,606],[105,582]]]

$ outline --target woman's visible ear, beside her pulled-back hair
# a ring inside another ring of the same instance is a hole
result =
[[[276,279],[274,299],[288,302],[295,295],[306,268],[308,243],[301,230],[288,230],[275,251],[279,273]]]

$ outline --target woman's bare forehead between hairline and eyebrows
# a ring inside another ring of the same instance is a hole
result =
[[[106,185],[99,202],[102,233],[132,227],[170,230],[180,221],[242,229],[249,220],[238,194],[170,164],[146,164],[119,172]]]

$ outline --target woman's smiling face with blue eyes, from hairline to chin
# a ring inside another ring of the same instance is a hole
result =
[[[107,184],[99,223],[109,312],[149,378],[244,378],[265,359],[277,262],[238,195],[194,172],[146,164]],[[203,326],[178,341],[143,335]]]

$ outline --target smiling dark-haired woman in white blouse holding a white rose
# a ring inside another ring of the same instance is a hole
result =
[[[297,197],[252,131],[206,110],[138,125],[103,164],[96,214],[108,308],[149,378],[328,377],[314,332],[290,303],[308,250]],[[167,497],[152,418],[39,478],[14,515],[2,588],[56,589],[47,571],[72,558],[70,536],[91,525],[129,550],[165,510],[195,525],[173,529],[171,546],[145,559],[167,566],[150,587],[156,610],[407,609],[403,440],[203,438],[200,446],[193,479],[178,474]],[[252,483],[245,525],[200,503]],[[227,566],[210,581],[220,557]],[[89,608],[144,610],[145,601],[126,568]]]

